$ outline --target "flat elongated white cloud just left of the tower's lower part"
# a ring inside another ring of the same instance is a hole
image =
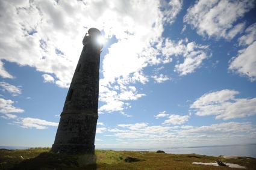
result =
[[[23,128],[36,128],[36,129],[48,129],[48,126],[58,126],[58,123],[40,120],[38,118],[21,118],[20,121],[15,122]]]

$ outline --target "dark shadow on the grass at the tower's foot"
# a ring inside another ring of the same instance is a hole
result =
[[[96,156],[89,154],[40,153],[39,156],[23,160],[13,170],[34,169],[96,169]]]

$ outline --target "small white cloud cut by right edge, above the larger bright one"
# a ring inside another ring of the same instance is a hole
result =
[[[239,45],[250,45],[256,40],[256,23],[245,29],[245,35],[239,38]]]

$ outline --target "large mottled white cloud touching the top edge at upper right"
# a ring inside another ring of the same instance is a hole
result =
[[[243,17],[255,5],[254,1],[198,1],[187,9],[184,22],[196,28],[199,35],[232,39],[243,30],[243,23],[237,19]]]

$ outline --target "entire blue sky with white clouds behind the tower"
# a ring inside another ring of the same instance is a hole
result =
[[[0,145],[50,147],[89,28],[96,148],[256,142],[255,1],[1,1]]]

